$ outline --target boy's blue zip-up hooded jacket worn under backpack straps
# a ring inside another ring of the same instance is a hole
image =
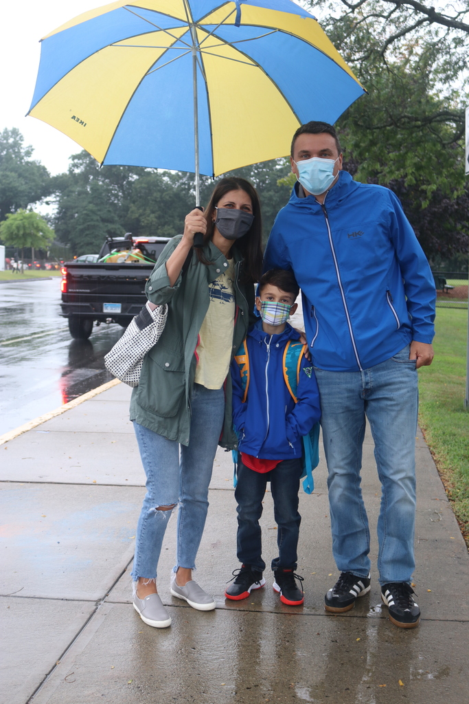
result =
[[[298,333],[290,325],[278,335],[262,329],[262,320],[248,332],[245,344],[250,360],[250,382],[245,403],[240,369],[231,363],[233,423],[240,452],[264,460],[291,460],[302,456],[302,435],[321,417],[319,391],[311,362],[302,359],[297,403],[283,377],[283,351]]]

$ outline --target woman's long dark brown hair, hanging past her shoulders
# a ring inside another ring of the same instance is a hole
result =
[[[207,244],[213,236],[214,223],[212,222],[212,213],[214,208],[229,191],[244,191],[252,203],[252,215],[254,220],[250,230],[237,239],[233,246],[243,256],[243,282],[255,283],[262,276],[262,218],[259,196],[255,187],[243,178],[229,176],[219,180],[214,188],[207,208],[205,208],[205,219],[207,220],[207,232],[204,237],[204,244]],[[197,249],[198,260],[203,264],[210,264],[205,258],[202,249]]]

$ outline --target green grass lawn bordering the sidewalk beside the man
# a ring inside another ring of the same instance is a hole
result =
[[[468,311],[437,308],[435,359],[420,367],[419,424],[469,547]]]

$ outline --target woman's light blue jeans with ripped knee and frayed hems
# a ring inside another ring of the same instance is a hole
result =
[[[132,577],[154,579],[167,523],[172,510],[158,506],[179,503],[176,566],[195,570],[208,508],[208,485],[224,419],[223,389],[194,384],[191,398],[191,436],[187,447],[134,422],[146,496],[137,525]]]

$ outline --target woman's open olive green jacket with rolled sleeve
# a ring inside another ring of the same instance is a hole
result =
[[[158,343],[143,360],[139,386],[135,387],[131,397],[130,419],[169,440],[187,445],[190,439],[191,391],[196,366],[194,351],[210,303],[208,284],[217,279],[229,263],[210,241],[203,248],[210,265],[201,264],[193,252],[188,269],[179,274],[171,287],[165,263],[181,237],[178,235],[167,243],[146,283],[148,300],[158,305],[167,303],[168,316]],[[248,332],[255,301],[254,286],[240,283],[240,279],[243,279],[243,258],[236,246],[233,246],[232,253],[236,272],[236,312],[233,339],[230,341],[231,358]],[[231,420],[229,374],[225,384],[225,417],[219,444],[230,450],[236,449],[238,445]]]

